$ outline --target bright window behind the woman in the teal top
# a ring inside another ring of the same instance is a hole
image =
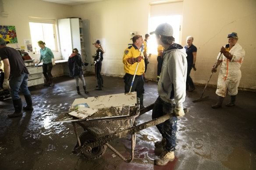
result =
[[[56,25],[54,21],[34,18],[29,18],[29,21],[33,52],[39,52],[40,47],[38,46],[38,41],[45,42],[46,46],[50,48],[52,52],[57,52]]]

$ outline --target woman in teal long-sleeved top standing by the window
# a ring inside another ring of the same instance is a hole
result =
[[[43,41],[39,41],[38,45],[41,49],[39,62],[36,63],[36,66],[38,66],[38,64],[43,60],[43,75],[46,79],[46,83],[44,83],[44,86],[53,87],[53,75],[51,73],[53,66],[55,66],[53,52],[51,51],[51,49],[45,46],[45,42]]]

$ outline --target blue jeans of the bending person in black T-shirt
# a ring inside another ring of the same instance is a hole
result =
[[[18,100],[20,98],[19,96],[19,89],[21,89],[21,92],[24,96],[30,95],[30,92],[28,90],[28,74],[23,73],[21,76],[18,77],[11,77],[9,80],[10,85],[10,94],[12,100]]]

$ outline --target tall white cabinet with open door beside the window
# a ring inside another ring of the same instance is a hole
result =
[[[78,49],[83,62],[91,63],[89,20],[65,18],[58,20],[60,52],[62,59],[68,60],[72,49]],[[88,68],[88,69],[87,69]],[[91,70],[90,64],[86,70]],[[83,68],[85,70],[85,68]]]

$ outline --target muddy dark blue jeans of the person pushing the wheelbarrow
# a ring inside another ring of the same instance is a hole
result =
[[[156,102],[154,104],[154,108],[152,111],[152,119],[159,118],[166,114],[173,114],[174,108],[175,108],[175,104],[164,102],[160,99],[160,97],[158,97],[156,99]],[[178,118],[176,118],[173,114],[173,117],[171,117],[170,119],[156,125],[156,128],[158,128],[163,138],[166,139],[166,149],[168,151],[175,150],[177,120]]]

